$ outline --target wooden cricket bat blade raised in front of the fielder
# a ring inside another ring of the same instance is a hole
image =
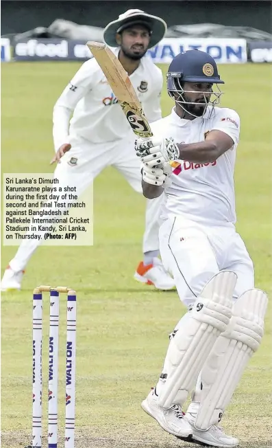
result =
[[[132,131],[138,137],[152,137],[153,134],[140,101],[119,59],[104,43],[87,42],[86,45],[106,76]]]

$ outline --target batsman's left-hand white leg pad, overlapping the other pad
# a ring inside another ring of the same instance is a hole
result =
[[[234,272],[217,273],[197,298],[188,319],[181,322],[166,353],[160,406],[186,401],[212,346],[230,322],[236,280]]]

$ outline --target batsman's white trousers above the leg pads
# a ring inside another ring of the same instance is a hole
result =
[[[254,288],[254,266],[232,223],[203,225],[172,216],[160,227],[160,255],[172,273],[180,300],[190,306],[214,274],[234,271],[234,300]]]

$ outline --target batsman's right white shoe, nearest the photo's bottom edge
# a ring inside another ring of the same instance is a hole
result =
[[[232,436],[227,436],[221,427],[212,425],[210,429],[207,429],[207,431],[199,431],[199,429],[196,429],[194,426],[195,418],[192,414],[187,412],[185,418],[188,423],[190,423],[193,431],[193,438],[191,439],[191,442],[199,443],[199,445],[204,445],[205,447],[238,447],[239,439]]]

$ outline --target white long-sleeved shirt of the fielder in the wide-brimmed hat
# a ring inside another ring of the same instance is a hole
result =
[[[113,51],[116,55],[119,53],[119,49]],[[145,56],[129,79],[147,120],[160,120],[162,71]],[[92,143],[114,142],[134,135],[95,58],[87,60],[79,68],[53,109],[55,150],[69,143],[69,134],[79,135]]]

